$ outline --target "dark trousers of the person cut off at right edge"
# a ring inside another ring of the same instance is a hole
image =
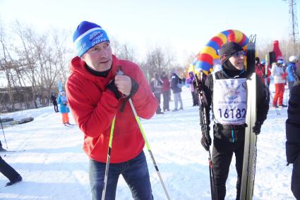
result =
[[[295,198],[300,199],[300,156],[293,163],[291,189]]]

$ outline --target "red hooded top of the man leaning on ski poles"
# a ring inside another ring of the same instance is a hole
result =
[[[68,104],[76,123],[84,133],[83,149],[90,158],[105,163],[112,120],[116,115],[112,140],[111,163],[121,163],[135,158],[143,151],[145,142],[129,102],[120,113],[121,104],[114,93],[106,89],[114,79],[116,66],[121,65],[124,74],[136,80],[138,91],[132,96],[133,105],[140,118],[149,119],[155,114],[158,103],[145,76],[135,63],[113,56],[112,69],[107,77],[92,75],[79,57],[71,61],[71,75],[66,82]]]

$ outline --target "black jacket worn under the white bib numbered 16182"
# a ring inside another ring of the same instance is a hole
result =
[[[242,73],[239,77],[229,77],[224,70],[220,70],[215,73],[216,80],[221,79],[233,79],[233,78],[245,78],[247,73]],[[247,77],[246,77],[247,78]],[[205,102],[205,112],[206,112],[206,125],[210,125],[210,107],[212,107],[212,99],[213,99],[213,78],[212,74],[210,74],[205,80],[205,85],[203,87],[204,96],[206,99]],[[267,118],[267,114],[269,111],[269,102],[270,102],[270,94],[269,90],[263,82],[260,80],[260,77],[256,75],[256,105],[257,105],[257,120],[263,124],[264,120]],[[212,118],[214,118],[212,113]],[[202,132],[204,131],[204,123],[203,119],[200,118],[200,126]],[[245,138],[245,127],[247,125],[222,125],[220,123],[215,123],[213,126],[214,137],[218,139],[223,139],[229,142],[237,142],[242,141]],[[209,127],[206,127],[210,130]]]

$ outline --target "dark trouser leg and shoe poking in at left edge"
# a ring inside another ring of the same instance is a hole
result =
[[[4,159],[0,156],[0,172],[8,178],[9,182],[6,183],[5,186],[10,186],[15,184],[16,182],[22,181],[22,177],[15,169],[11,167],[11,165],[8,165]]]

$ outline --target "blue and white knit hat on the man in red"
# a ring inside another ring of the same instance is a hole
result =
[[[79,57],[92,48],[92,46],[105,41],[109,41],[109,38],[102,27],[87,21],[80,23],[73,35],[73,42]]]

